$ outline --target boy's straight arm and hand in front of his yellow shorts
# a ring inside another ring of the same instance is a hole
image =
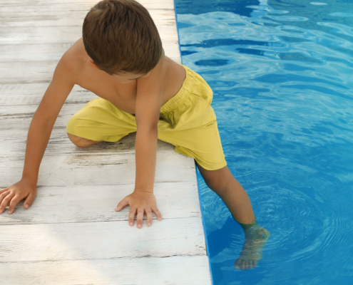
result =
[[[157,152],[158,120],[163,94],[163,81],[166,63],[164,53],[155,68],[146,78],[138,79],[135,118],[137,125],[135,155],[136,177],[135,190],[126,196],[116,207],[120,211],[130,204],[129,224],[132,226],[137,211],[137,224],[142,227],[143,214],[147,215],[146,224],[152,224],[152,211],[161,219],[155,196],[153,183],[155,179],[155,158]]]

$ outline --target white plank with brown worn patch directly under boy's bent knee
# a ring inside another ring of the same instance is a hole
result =
[[[0,130],[0,157],[23,156],[26,151],[27,130]],[[135,152],[136,133],[131,133],[118,142],[98,142],[89,147],[76,147],[68,139],[65,128],[55,128],[46,147],[44,155],[82,155],[82,154],[111,154]],[[174,146],[168,142],[158,140],[158,152],[174,152]]]

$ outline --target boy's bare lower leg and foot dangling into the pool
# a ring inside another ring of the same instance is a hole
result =
[[[232,217],[244,229],[245,243],[239,259],[235,261],[235,268],[242,270],[255,268],[257,262],[262,259],[262,247],[265,246],[270,232],[257,225],[247,192],[227,166],[220,170],[205,170],[197,162],[196,165],[208,187],[220,196]]]

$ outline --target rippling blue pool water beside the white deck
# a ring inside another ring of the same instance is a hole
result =
[[[198,172],[214,285],[353,284],[353,1],[175,0],[183,64],[214,91],[225,158],[271,232],[242,228]]]

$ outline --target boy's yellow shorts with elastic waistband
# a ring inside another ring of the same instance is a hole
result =
[[[206,170],[218,170],[227,162],[211,107],[213,91],[198,73],[187,66],[183,68],[183,86],[160,108],[158,139],[175,145],[176,152],[193,157]],[[135,115],[103,98],[88,102],[66,126],[71,135],[106,142],[117,142],[135,131]]]

